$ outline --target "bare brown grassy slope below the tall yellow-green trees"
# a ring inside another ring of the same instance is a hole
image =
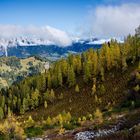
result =
[[[36,121],[39,121],[41,118],[46,119],[48,116],[56,116],[64,110],[66,112],[69,111],[74,117],[79,117],[87,115],[88,113],[93,114],[95,112],[95,106],[104,109],[108,104],[117,105],[126,97],[127,81],[130,77],[130,73],[135,68],[137,68],[137,64],[129,66],[128,70],[124,73],[115,71],[113,72],[115,73],[114,76],[111,73],[106,74],[107,76],[103,82],[106,92],[101,95],[97,91],[97,96],[101,99],[101,103],[99,103],[99,101],[96,102],[95,97],[91,96],[92,83],[85,85],[82,77],[78,77],[77,83],[80,87],[80,93],[75,92],[75,87],[55,89],[56,95],[61,92],[64,94],[62,100],[56,100],[53,104],[49,104],[47,109],[44,109],[44,107],[41,106],[35,111],[27,112],[24,115],[24,119],[27,119],[29,115],[32,115]]]

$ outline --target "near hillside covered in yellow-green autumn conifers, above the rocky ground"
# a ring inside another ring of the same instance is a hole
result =
[[[74,129],[86,120],[102,124],[105,113],[113,109],[139,107],[139,60],[140,37],[136,32],[124,43],[112,40],[99,50],[70,54],[45,73],[1,90],[0,118],[8,116],[0,125],[1,135],[7,134],[9,119],[24,120],[9,126],[14,127],[10,138],[22,138],[24,134],[33,137],[49,128],[63,134],[65,129]]]

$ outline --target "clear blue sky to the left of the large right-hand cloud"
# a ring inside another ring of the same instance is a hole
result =
[[[87,2],[88,1],[88,2]],[[0,23],[72,28],[86,17],[92,0],[0,0]],[[82,17],[82,18],[81,18]]]

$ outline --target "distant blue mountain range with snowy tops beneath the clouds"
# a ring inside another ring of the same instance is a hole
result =
[[[0,39],[0,56],[17,56],[26,58],[32,55],[56,60],[65,57],[68,53],[79,53],[89,48],[99,49],[101,45],[111,39],[73,39],[69,46],[60,46],[52,41],[38,38]],[[123,42],[117,39],[118,42]]]

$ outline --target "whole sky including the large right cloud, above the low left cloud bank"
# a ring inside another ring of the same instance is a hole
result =
[[[0,0],[4,35],[12,34],[13,26],[20,34],[51,26],[73,35],[118,37],[139,24],[140,0]]]

